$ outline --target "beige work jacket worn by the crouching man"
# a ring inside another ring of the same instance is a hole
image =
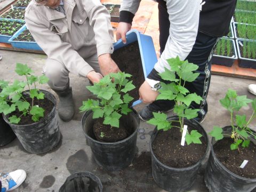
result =
[[[85,77],[93,68],[83,58],[114,51],[110,15],[99,0],[63,0],[63,5],[66,15],[31,1],[26,25],[50,59]]]

